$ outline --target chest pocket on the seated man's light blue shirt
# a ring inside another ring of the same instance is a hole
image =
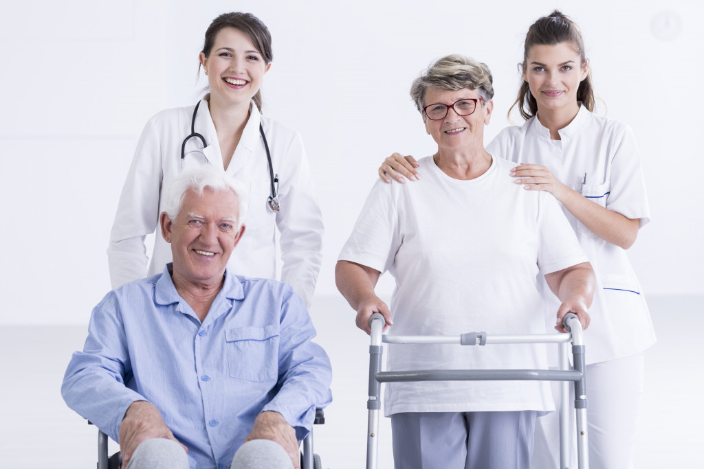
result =
[[[279,368],[277,326],[225,330],[230,376],[260,382],[276,375]]]

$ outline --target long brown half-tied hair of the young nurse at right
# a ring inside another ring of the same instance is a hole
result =
[[[569,44],[575,52],[579,54],[582,60],[581,65],[586,64],[586,53],[584,52],[584,39],[579,26],[574,21],[563,15],[561,11],[555,10],[543,18],[539,18],[535,23],[528,28],[526,40],[523,45],[523,72],[526,71],[528,52],[532,46],[544,45],[554,46],[555,44]],[[591,68],[587,72],[586,78],[579,83],[577,89],[577,101],[582,101],[582,105],[588,110],[594,110],[594,89],[591,84]],[[525,120],[538,113],[538,104],[535,97],[531,94],[528,82],[523,80],[520,89],[518,89],[518,97],[515,103],[508,110],[510,115],[515,106],[518,105],[518,112]]]

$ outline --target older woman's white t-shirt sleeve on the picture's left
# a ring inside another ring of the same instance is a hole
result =
[[[356,262],[382,274],[391,268],[401,245],[392,186],[379,180],[372,187],[338,260]]]

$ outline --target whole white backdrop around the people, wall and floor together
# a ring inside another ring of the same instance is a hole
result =
[[[337,253],[379,162],[396,150],[422,157],[434,149],[410,82],[448,53],[486,62],[496,87],[488,143],[508,124],[527,27],[555,7],[581,25],[606,104],[599,112],[632,127],[648,183],[653,221],[629,254],[659,341],[646,355],[636,467],[696,467],[703,366],[687,358],[700,356],[704,327],[699,0],[4,4],[0,467],[94,467],[95,430],[63,404],[63,370],[110,288],[105,249],[142,127],[159,110],[196,102],[203,32],[232,10],[255,13],[272,32],[265,113],[301,132],[325,216],[312,315],[334,367],[335,400],[316,449],[325,467],[363,467],[368,342],[334,288]],[[382,278],[379,290],[388,295],[390,285]],[[387,419],[380,438],[379,467],[389,468]]]

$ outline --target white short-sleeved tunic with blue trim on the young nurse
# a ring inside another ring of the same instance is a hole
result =
[[[580,106],[560,140],[535,117],[522,127],[503,129],[486,147],[515,163],[535,163],[594,203],[630,219],[650,221],[650,210],[638,146],[622,122],[590,113]],[[586,175],[586,184],[584,178]],[[596,273],[596,292],[589,309],[591,325],[584,331],[588,364],[633,356],[655,343],[655,331],[645,295],[626,251],[589,231],[563,207],[579,244]],[[546,284],[546,321],[555,321],[559,301]]]

